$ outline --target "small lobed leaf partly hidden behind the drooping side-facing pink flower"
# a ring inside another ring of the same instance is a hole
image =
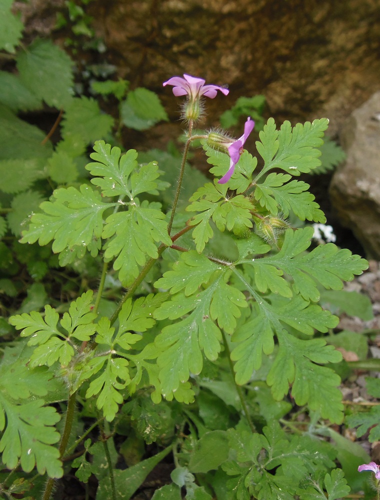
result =
[[[205,142],[203,142],[203,149],[208,156],[207,163],[214,165],[210,168],[210,172],[214,175],[224,175],[229,168],[230,158],[228,154],[212,149]],[[236,194],[244,192],[252,182],[252,173],[257,166],[257,158],[253,157],[248,151],[243,151],[232,177],[228,181],[228,188],[236,190]]]

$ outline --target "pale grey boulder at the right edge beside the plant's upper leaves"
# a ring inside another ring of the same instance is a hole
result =
[[[330,185],[331,203],[366,257],[380,259],[380,92],[355,109],[340,142],[347,153]]]

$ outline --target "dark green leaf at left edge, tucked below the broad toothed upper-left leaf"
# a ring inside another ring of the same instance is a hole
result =
[[[41,100],[15,74],[0,71],[0,87],[0,102],[12,111],[28,111],[42,105]]]

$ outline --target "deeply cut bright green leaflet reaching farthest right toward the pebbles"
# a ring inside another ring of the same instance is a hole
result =
[[[306,300],[319,300],[319,291],[315,281],[325,288],[338,290],[343,287],[343,280],[350,281],[354,274],[361,274],[368,264],[359,255],[352,255],[347,249],[339,249],[333,243],[319,245],[309,253],[304,251],[309,247],[313,234],[312,227],[303,229],[287,229],[281,250],[275,255],[254,260],[240,260],[255,268],[257,288],[264,292],[267,288],[283,296],[284,286],[280,287],[280,274],[269,270],[271,265],[290,275],[296,293]],[[260,270],[259,270],[260,269]],[[277,280],[273,281],[273,277]],[[277,286],[277,288],[276,288]]]

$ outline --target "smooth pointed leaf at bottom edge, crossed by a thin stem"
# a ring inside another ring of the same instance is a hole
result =
[[[148,473],[172,450],[171,446],[136,465],[125,470],[113,469],[116,497],[129,500],[138,486],[142,484]],[[105,475],[100,481],[96,491],[96,500],[109,500],[112,496],[109,475]]]

